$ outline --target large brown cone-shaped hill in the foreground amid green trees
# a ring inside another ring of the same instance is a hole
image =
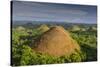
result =
[[[52,56],[70,55],[75,50],[80,50],[79,45],[74,41],[69,32],[63,27],[55,26],[43,33],[36,41],[33,49],[40,53]]]

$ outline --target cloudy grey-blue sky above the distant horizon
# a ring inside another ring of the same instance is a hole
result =
[[[13,1],[13,21],[53,21],[97,23],[97,7],[93,5]]]

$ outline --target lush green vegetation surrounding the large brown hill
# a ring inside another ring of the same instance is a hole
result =
[[[85,29],[85,28],[84,28]],[[37,65],[37,64],[56,64],[85,62],[97,60],[97,31],[69,30],[73,39],[81,47],[81,51],[70,56],[55,57],[47,54],[35,52],[31,46],[34,46],[34,40],[43,33],[39,28],[26,28],[17,26],[12,28],[12,65]]]

